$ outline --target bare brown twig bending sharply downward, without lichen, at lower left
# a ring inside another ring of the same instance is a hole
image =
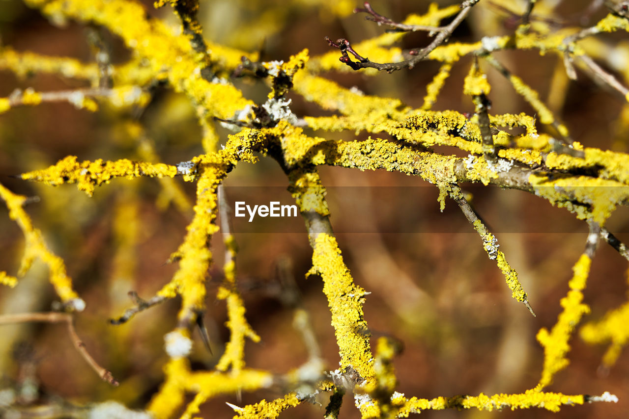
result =
[[[79,354],[87,361],[89,366],[92,367],[96,374],[103,379],[103,381],[107,381],[112,386],[118,386],[118,381],[114,378],[111,371],[108,369],[104,369],[99,366],[99,364],[92,358],[92,356],[87,352],[85,344],[82,342],[79,335],[77,335],[76,330],[74,329],[74,317],[69,313],[57,313],[57,312],[48,312],[48,313],[19,313],[19,314],[5,314],[0,315],[0,324],[12,324],[12,323],[30,323],[30,322],[45,322],[45,323],[63,323],[68,326],[68,333],[70,334],[70,340],[72,340],[72,344],[79,351]]]

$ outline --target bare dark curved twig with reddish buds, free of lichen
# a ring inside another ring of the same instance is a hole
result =
[[[386,72],[392,73],[396,70],[401,70],[402,68],[413,68],[418,62],[426,58],[428,54],[432,52],[432,50],[437,48],[437,46],[441,45],[443,42],[445,42],[445,40],[450,37],[450,35],[452,35],[457,26],[459,26],[459,24],[464,21],[465,18],[467,18],[467,15],[472,10],[472,6],[478,3],[478,1],[479,0],[465,1],[461,5],[462,10],[459,12],[459,14],[457,14],[457,16],[452,22],[450,22],[450,24],[448,24],[448,26],[445,26],[438,31],[439,33],[437,34],[437,36],[435,36],[435,39],[430,43],[430,45],[426,46],[425,48],[411,50],[409,53],[413,57],[398,63],[374,63],[371,62],[369,58],[361,57],[359,53],[353,50],[352,46],[350,45],[350,41],[344,38],[341,38],[336,42],[331,41],[330,38],[328,38],[327,36],[324,39],[328,42],[328,45],[333,46],[334,48],[338,48],[341,51],[342,57],[339,58],[340,62],[346,63],[347,65],[352,67],[352,70],[359,70],[360,68],[376,68],[376,70],[386,70]],[[351,53],[359,61],[352,61],[352,59],[347,54],[348,52]]]

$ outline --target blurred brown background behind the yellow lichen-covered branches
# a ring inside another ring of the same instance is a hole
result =
[[[145,3],[151,15],[175,24],[169,8],[155,11],[150,2]],[[329,50],[323,41],[326,35],[360,41],[383,30],[364,21],[360,15],[333,16],[328,13],[330,4],[325,1],[298,3],[207,1],[199,16],[208,39],[245,50],[262,48],[263,60],[286,60],[303,48],[309,48],[311,56],[326,53]],[[538,7],[543,11],[545,3],[536,6],[536,11]],[[557,11],[565,20],[578,18],[589,4],[587,1],[555,3],[559,3]],[[374,0],[372,6],[386,16],[402,20],[408,13],[425,12],[428,2]],[[513,9],[523,11],[524,6],[515,3]],[[589,19],[589,24],[604,13],[604,9],[600,9]],[[262,23],[258,23],[260,19]],[[511,16],[490,2],[481,1],[474,14],[457,29],[453,40],[473,41],[484,35],[509,33],[510,19]],[[83,26],[72,22],[64,28],[52,26],[38,11],[18,1],[0,2],[0,35],[3,46],[18,51],[75,57],[86,62],[94,60]],[[114,36],[105,36],[111,43],[113,62],[125,62],[130,52]],[[621,40],[626,41],[626,34],[600,38],[609,45],[616,45]],[[413,34],[404,40],[403,47],[425,45],[426,40],[426,35]],[[496,57],[540,92],[540,97],[566,122],[574,139],[585,146],[626,151],[623,128],[616,122],[622,103],[614,95],[579,73],[579,80],[569,84],[565,95],[548,98],[559,62],[555,55],[540,57],[537,52],[500,52]],[[462,95],[463,77],[469,65],[469,59],[455,65],[433,109],[473,112],[471,101]],[[613,68],[608,69],[613,71]],[[399,97],[411,106],[420,107],[425,86],[437,70],[437,63],[426,62],[413,70],[391,75],[366,77],[352,72],[327,76],[346,87],[355,85],[367,94]],[[493,84],[491,112],[533,112],[498,73],[491,68],[487,68],[487,72]],[[246,80],[236,83],[251,99],[265,100],[268,89],[264,85]],[[26,87],[51,91],[87,85],[81,80],[42,74],[18,79],[9,71],[0,71],[0,97]],[[291,97],[291,109],[299,117],[323,114],[300,97]],[[39,393],[34,403],[49,403],[55,397],[78,404],[115,399],[133,408],[143,408],[162,379],[161,368],[166,360],[163,336],[175,327],[177,300],[140,313],[124,325],[114,327],[106,321],[130,307],[127,291],[136,290],[141,297],[149,298],[169,281],[176,268],[165,261],[181,242],[190,215],[172,205],[165,210],[156,207],[159,183],[150,179],[114,180],[98,188],[90,199],[74,185],[52,188],[8,177],[51,165],[66,155],[76,155],[79,160],[138,158],[138,144],[119,134],[123,123],[120,113],[103,109],[92,114],[69,104],[42,104],[19,107],[0,115],[0,182],[13,192],[41,198],[37,204],[27,207],[28,213],[35,226],[42,229],[50,248],[64,258],[75,287],[87,302],[85,312],[77,316],[77,332],[92,355],[121,381],[121,386],[115,389],[101,382],[77,356],[62,325],[2,326],[1,383],[4,388],[13,385],[20,374],[25,373],[25,365],[35,365]],[[128,118],[131,112],[133,110],[123,115]],[[184,97],[166,87],[155,91],[140,122],[147,136],[155,142],[157,154],[164,163],[175,164],[202,153],[194,110]],[[224,141],[228,132],[220,133]],[[332,136],[355,138],[353,133]],[[356,222],[356,219],[374,226],[365,233],[338,234],[338,241],[355,282],[372,291],[364,306],[374,337],[372,341],[386,335],[404,344],[403,353],[395,360],[398,391],[408,397],[433,398],[481,392],[490,395],[520,393],[535,386],[543,359],[535,334],[540,327],[550,329],[555,323],[560,312],[559,300],[567,292],[567,281],[572,275],[572,264],[585,244],[585,224],[576,222],[565,210],[550,207],[547,202],[523,192],[492,187],[473,189],[472,204],[489,226],[498,226],[494,232],[509,263],[520,274],[537,313],[533,318],[521,303],[511,298],[499,269],[487,259],[481,239],[464,221],[454,202],[447,202],[444,214],[439,212],[436,189],[418,178],[398,173],[321,167],[321,177],[330,187],[367,187],[360,205],[343,199],[343,193],[335,194],[332,188],[331,221],[339,231],[347,226],[345,223]],[[262,159],[257,165],[238,166],[226,184],[284,187],[286,178],[274,161]],[[408,188],[386,200],[374,193],[376,189],[368,188],[394,186]],[[182,187],[193,199],[194,185],[182,183]],[[418,197],[409,197],[408,191],[417,193]],[[416,202],[414,209],[409,209],[408,200]],[[117,211],[125,203],[132,204],[135,221],[131,219],[128,226],[136,229],[138,242],[137,246],[125,250],[130,258],[126,262],[117,259],[121,257],[120,243],[114,229]],[[402,207],[404,211],[400,212],[398,209]],[[543,231],[540,225],[551,225],[552,231]],[[619,209],[609,227],[612,232],[618,232],[621,240],[629,241],[629,212]],[[408,232],[403,232],[405,229]],[[336,369],[338,349],[321,282],[318,278],[304,279],[311,258],[305,230],[240,233],[237,241],[240,247],[238,278],[247,318],[262,337],[260,344],[247,343],[247,365],[281,374],[306,361],[306,348],[291,326],[292,312],[275,298],[277,263],[281,258],[288,258],[327,367]],[[211,271],[206,314],[214,355],[204,349],[196,336],[192,359],[198,369],[211,369],[220,357],[223,342],[228,339],[223,325],[225,305],[213,297],[221,281],[222,252],[218,234],[213,239],[218,266]],[[22,253],[21,231],[0,205],[0,269],[14,275]],[[118,268],[121,264],[128,269],[121,271]],[[626,260],[601,243],[585,293],[585,302],[591,305],[592,313],[584,321],[598,319],[626,301],[626,268]],[[0,288],[0,312],[47,311],[53,297],[47,269],[37,263],[16,288]],[[571,365],[557,375],[548,390],[589,395],[610,391],[620,398],[619,403],[565,406],[558,414],[545,410],[491,413],[473,410],[425,411],[421,415],[442,419],[624,417],[621,412],[629,410],[629,358],[626,354],[621,356],[605,376],[597,370],[606,347],[586,346],[578,336],[571,340],[571,345]],[[216,398],[203,405],[202,415],[231,417],[233,411],[225,401],[242,406],[262,398],[276,398],[284,390],[243,394],[242,401],[235,396]],[[302,403],[281,417],[321,417],[327,401],[325,398],[319,401],[323,406]],[[350,396],[345,398],[341,417],[359,417]]]

